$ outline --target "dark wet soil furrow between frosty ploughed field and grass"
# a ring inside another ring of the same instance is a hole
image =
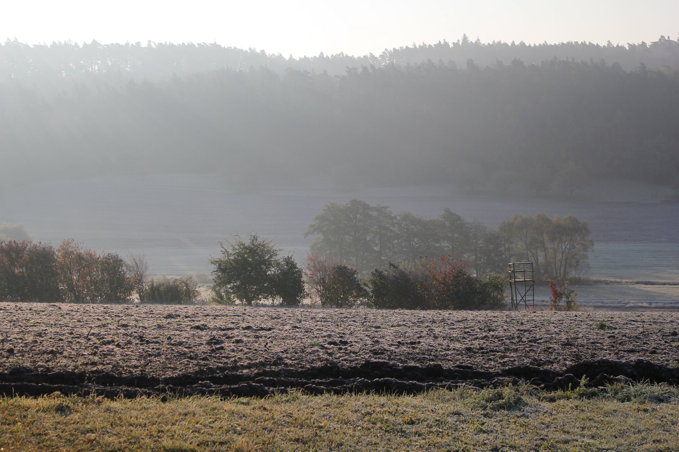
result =
[[[582,361],[564,371],[534,366],[517,366],[489,372],[476,369],[444,368],[441,365],[397,365],[387,361],[365,361],[356,367],[324,365],[310,369],[276,369],[256,373],[219,373],[217,369],[176,375],[166,379],[134,375],[116,377],[110,373],[32,372],[26,368],[0,373],[0,395],[38,396],[62,394],[103,396],[196,395],[265,396],[276,390],[301,389],[311,394],[331,392],[390,392],[416,394],[435,387],[466,384],[479,388],[530,382],[545,390],[577,388],[581,379],[587,386],[611,382],[652,382],[679,384],[679,369],[638,360],[623,363],[600,359]]]

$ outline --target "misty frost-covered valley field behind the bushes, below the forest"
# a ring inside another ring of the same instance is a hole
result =
[[[592,277],[678,281],[679,204],[653,200],[646,186],[602,183],[592,191],[574,201],[498,199],[460,194],[447,185],[239,192],[213,175],[139,176],[5,190],[0,192],[0,222],[23,222],[41,241],[73,237],[98,250],[145,253],[153,273],[174,275],[208,272],[218,242],[236,232],[258,232],[302,258],[312,241],[304,239],[304,231],[314,215],[329,201],[354,197],[418,215],[439,215],[449,207],[466,220],[478,218],[490,226],[515,213],[572,213],[589,222],[595,241]],[[646,286],[625,287],[616,295],[606,286],[605,291],[591,297],[679,300],[679,291],[672,289],[659,294]],[[585,292],[589,289],[581,295]]]

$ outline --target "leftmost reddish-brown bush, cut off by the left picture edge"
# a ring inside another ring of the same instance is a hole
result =
[[[0,241],[0,300],[59,302],[59,274],[52,245]]]

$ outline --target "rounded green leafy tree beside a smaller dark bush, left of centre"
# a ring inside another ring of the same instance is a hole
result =
[[[221,302],[241,300],[251,306],[275,295],[278,251],[271,241],[257,234],[248,240],[234,236],[233,243],[221,246],[221,257],[210,259],[213,270],[213,291]]]

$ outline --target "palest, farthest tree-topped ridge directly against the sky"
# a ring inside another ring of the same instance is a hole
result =
[[[142,43],[100,44],[52,42],[49,45],[28,45],[7,39],[0,44],[0,77],[12,77],[37,85],[52,93],[71,87],[73,80],[84,83],[118,85],[129,79],[158,80],[173,75],[183,76],[221,68],[249,69],[266,66],[282,73],[287,68],[309,72],[344,75],[347,68],[397,64],[421,64],[431,60],[435,64],[456,65],[464,68],[469,60],[475,64],[496,66],[521,60],[524,64],[540,64],[546,60],[572,62],[617,63],[623,70],[644,64],[647,68],[679,67],[679,41],[661,36],[652,43],[604,45],[582,42],[519,43],[493,41],[482,43],[469,40],[466,35],[453,42],[416,44],[384,49],[379,55],[350,56],[344,53],[304,56],[295,59],[281,54],[267,54],[263,49],[238,49],[217,43]],[[96,77],[93,77],[95,76]],[[66,82],[66,83],[62,83]]]

